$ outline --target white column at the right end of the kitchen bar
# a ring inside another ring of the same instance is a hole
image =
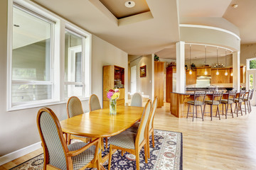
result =
[[[233,88],[240,91],[240,51],[233,52]]]

